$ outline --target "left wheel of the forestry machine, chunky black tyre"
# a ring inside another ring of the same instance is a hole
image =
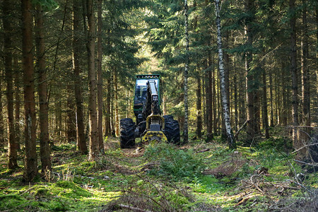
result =
[[[135,123],[132,119],[120,120],[120,147],[131,148],[135,146]]]

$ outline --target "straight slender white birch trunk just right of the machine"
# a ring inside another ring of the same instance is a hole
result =
[[[183,142],[188,142],[188,72],[189,72],[189,33],[188,33],[188,1],[184,0],[184,35],[186,42],[186,61],[184,65],[184,125]]]

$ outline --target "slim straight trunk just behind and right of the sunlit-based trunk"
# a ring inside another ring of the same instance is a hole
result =
[[[98,150],[104,151],[102,140],[102,0],[98,0]]]

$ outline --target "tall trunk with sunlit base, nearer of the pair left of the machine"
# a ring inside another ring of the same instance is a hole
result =
[[[89,89],[89,122],[90,122],[90,151],[89,160],[95,160],[98,155],[98,125],[96,111],[96,71],[95,71],[95,16],[93,10],[93,0],[87,0],[88,18],[88,89]]]

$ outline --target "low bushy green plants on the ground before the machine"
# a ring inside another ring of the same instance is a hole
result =
[[[159,161],[160,165],[149,173],[172,179],[193,179],[199,177],[206,167],[192,149],[180,150],[168,143],[148,146],[144,154],[149,161]]]

